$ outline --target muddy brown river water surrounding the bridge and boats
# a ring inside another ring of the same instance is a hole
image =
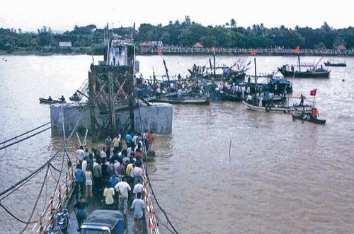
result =
[[[38,98],[69,97],[92,61],[85,55],[2,57],[7,62],[0,59],[1,141],[48,122],[49,107]],[[217,57],[217,64],[238,58]],[[161,57],[138,59],[145,76],[152,75],[153,66],[156,74],[164,74]],[[182,76],[194,63],[208,64],[202,56],[165,59],[169,73]],[[302,57],[302,62],[316,59]],[[354,58],[333,59],[348,66],[331,68],[329,79],[295,79],[292,93],[309,95],[317,88],[324,126],[251,112],[241,103],[174,107],[173,133],[156,136],[158,156],[148,170],[159,203],[180,233],[353,233]],[[296,61],[257,57],[257,69],[270,72]],[[44,163],[61,143],[48,131],[0,151],[1,190]],[[39,187],[38,177],[1,204],[28,218]],[[159,209],[156,214],[166,224]],[[0,208],[0,233],[17,233],[21,227]]]

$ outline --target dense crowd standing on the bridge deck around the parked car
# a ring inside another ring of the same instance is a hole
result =
[[[105,209],[118,209],[127,214],[128,204],[134,210],[136,233],[142,229],[145,209],[143,198],[144,187],[142,164],[143,147],[153,151],[153,131],[143,134],[131,133],[125,136],[125,147],[122,136],[117,134],[114,139],[107,136],[105,146],[88,148],[80,146],[76,151],[78,164],[74,170],[74,206],[79,227],[86,218],[86,205],[98,202]],[[80,231],[80,230],[78,230]]]

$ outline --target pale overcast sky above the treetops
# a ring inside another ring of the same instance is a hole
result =
[[[202,25],[222,25],[234,18],[243,27],[263,23],[268,28],[319,28],[326,21],[333,28],[347,28],[353,26],[353,6],[350,0],[4,0],[0,28],[33,31],[46,25],[54,31],[64,31],[72,30],[74,25],[92,23],[103,28],[105,23],[120,27],[134,22],[138,27],[140,23],[182,22],[185,16]]]

